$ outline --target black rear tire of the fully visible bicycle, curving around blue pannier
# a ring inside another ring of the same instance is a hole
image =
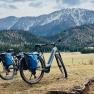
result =
[[[25,59],[23,58],[22,60],[25,60]],[[43,68],[45,66],[45,63],[44,63],[44,61],[43,61],[43,59],[41,57],[39,57],[39,62],[41,64],[41,69],[42,69],[41,73],[40,73],[40,75],[39,75],[39,77],[37,79],[31,80],[31,79],[27,79],[25,77],[25,74],[23,72],[24,71],[23,62],[21,61],[21,63],[20,63],[20,75],[21,75],[22,80],[24,80],[26,83],[32,85],[32,84],[38,83],[43,78],[43,75],[44,75]],[[27,70],[29,71],[29,69],[27,69]]]

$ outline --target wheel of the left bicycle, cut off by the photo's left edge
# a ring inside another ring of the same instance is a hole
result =
[[[11,80],[13,79],[14,73],[14,65],[10,65],[9,67],[4,66],[3,60],[0,61],[0,77],[3,80]]]

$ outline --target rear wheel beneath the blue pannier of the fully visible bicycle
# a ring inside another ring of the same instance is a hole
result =
[[[31,84],[31,85],[38,83],[44,75],[44,71],[43,71],[44,62],[43,62],[43,59],[39,58],[38,67],[35,71],[35,74],[33,74],[32,71],[29,70],[28,67],[27,67],[27,69],[24,68],[24,63],[26,63],[26,61],[23,58],[21,63],[20,63],[20,75],[21,75],[22,79],[26,83]]]

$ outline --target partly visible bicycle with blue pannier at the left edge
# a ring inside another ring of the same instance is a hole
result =
[[[7,57],[7,55],[9,57]],[[20,69],[20,59],[22,58],[20,52],[15,53],[13,49],[9,49],[8,51],[0,54],[0,77],[3,80],[11,80],[17,74],[17,71]],[[4,57],[7,57],[5,60]],[[7,64],[6,62],[10,62]]]

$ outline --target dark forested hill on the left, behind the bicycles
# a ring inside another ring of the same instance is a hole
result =
[[[4,48],[24,48],[32,50],[34,44],[47,43],[48,40],[27,31],[0,31],[0,50]],[[1,49],[2,48],[2,49]]]

